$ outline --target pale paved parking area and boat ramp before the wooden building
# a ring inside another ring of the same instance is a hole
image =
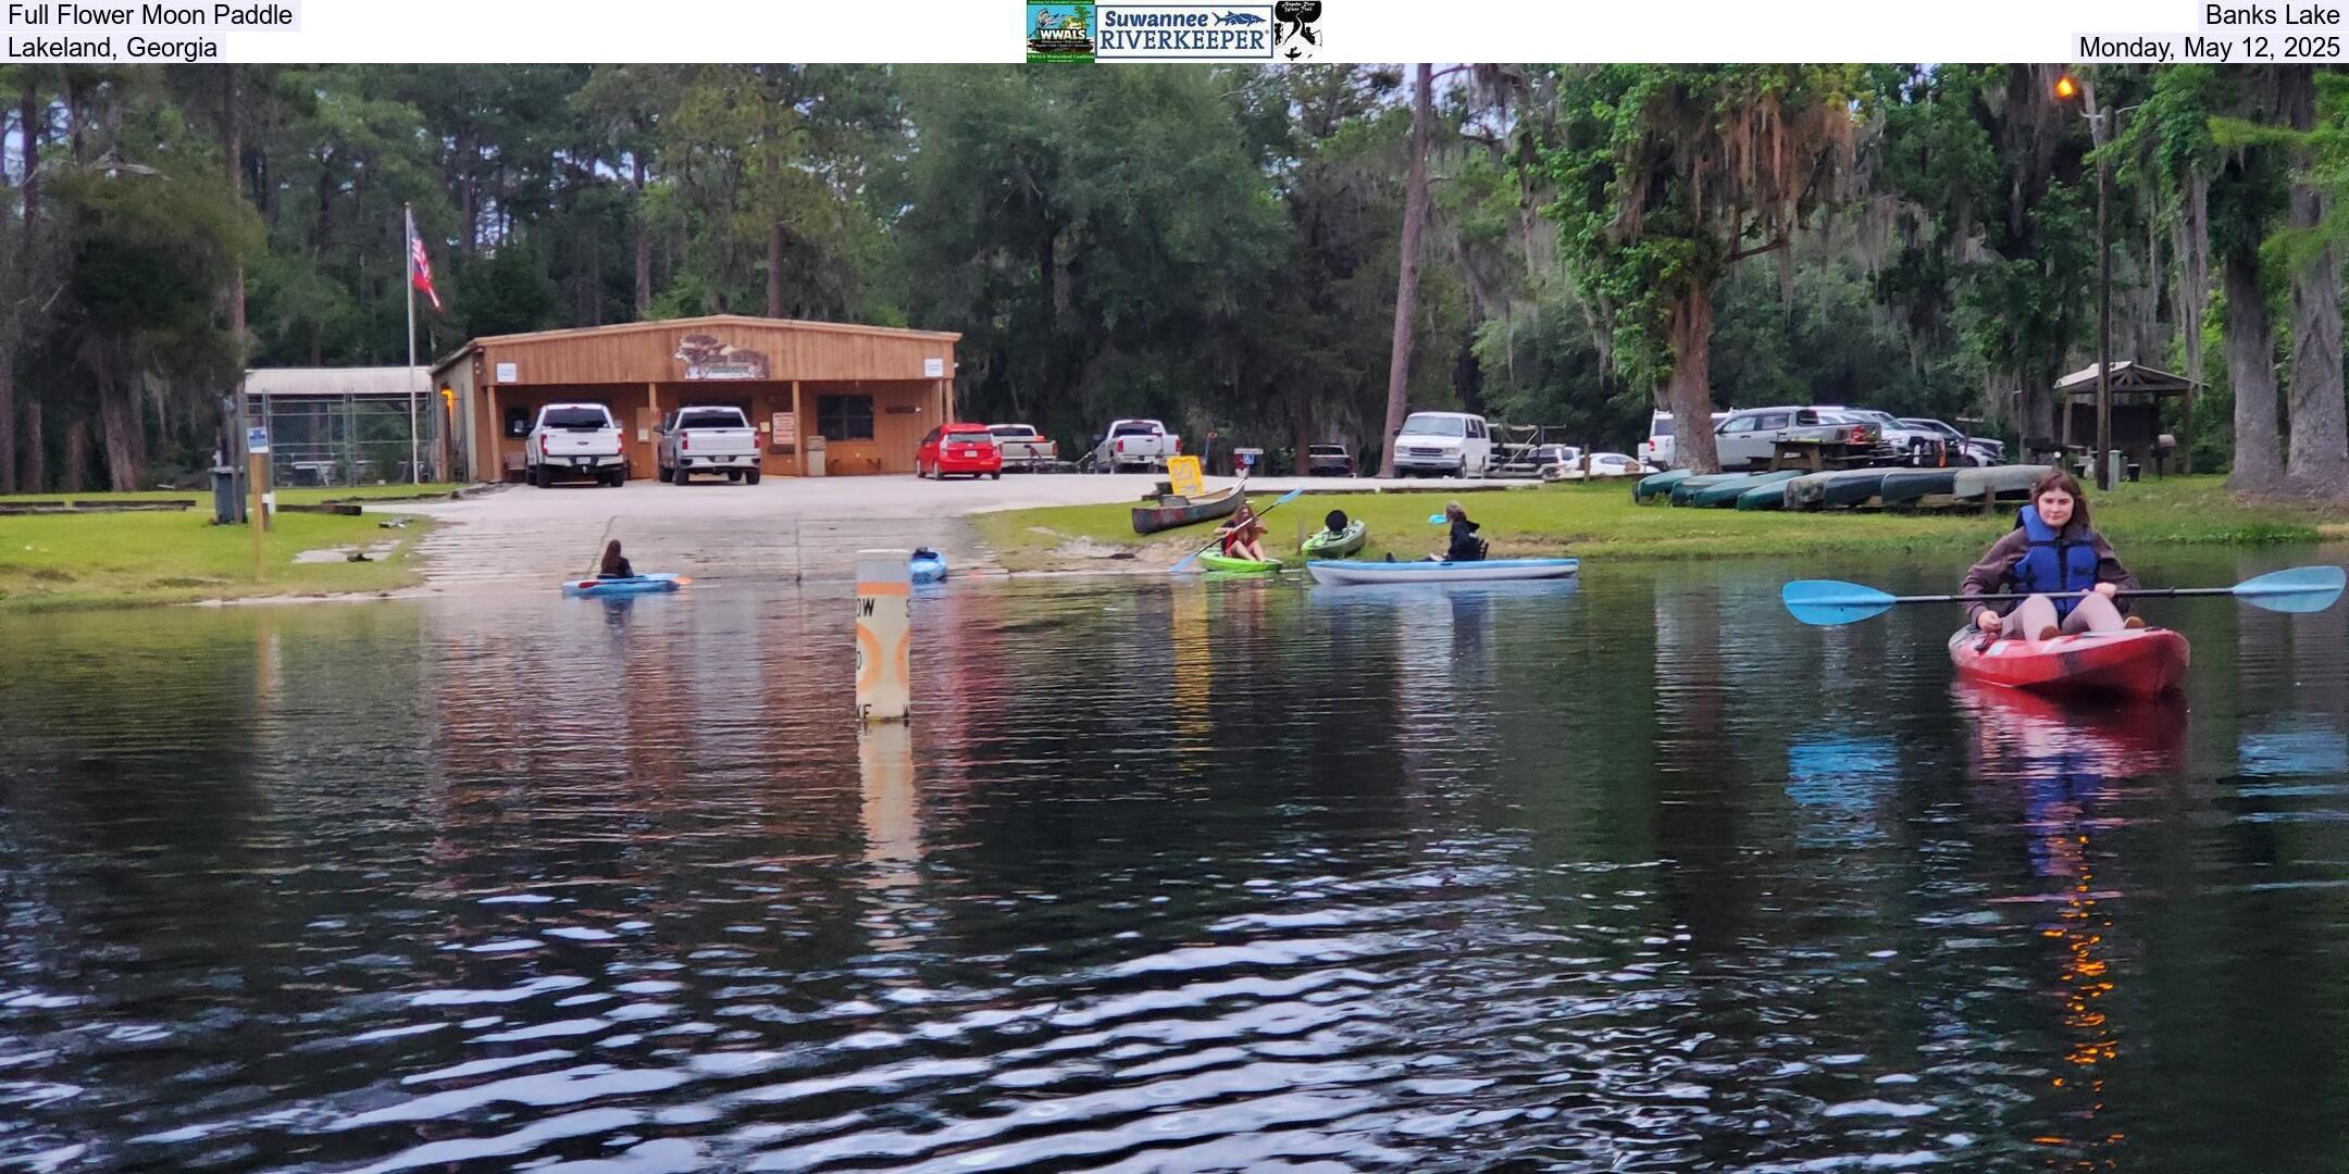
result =
[[[991,568],[968,517],[987,510],[1130,502],[1160,477],[1069,474],[1001,481],[914,477],[778,477],[756,486],[630,481],[618,488],[505,486],[453,502],[397,502],[371,512],[428,514],[442,526],[418,552],[423,592],[536,589],[587,575],[618,538],[644,571],[693,578],[846,578],[857,549],[933,547],[958,571]],[[1221,484],[1221,479],[1217,479]],[[1372,477],[1268,477],[1250,493],[1306,486],[1332,493],[1379,488],[1499,491],[1506,481],[1379,481]]]

